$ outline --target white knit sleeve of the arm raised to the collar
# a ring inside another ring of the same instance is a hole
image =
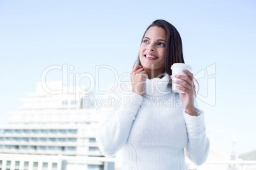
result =
[[[104,100],[108,105],[101,108],[96,140],[101,153],[111,157],[126,143],[143,98],[137,93],[123,95],[116,90],[105,95]]]

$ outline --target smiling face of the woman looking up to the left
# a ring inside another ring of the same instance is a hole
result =
[[[166,30],[150,27],[139,48],[139,60],[144,69],[164,70],[164,53],[166,50]]]

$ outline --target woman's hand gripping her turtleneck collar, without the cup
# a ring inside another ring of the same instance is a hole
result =
[[[145,92],[145,79],[148,78],[148,74],[141,65],[135,65],[131,72],[132,91],[139,95],[143,95]]]

